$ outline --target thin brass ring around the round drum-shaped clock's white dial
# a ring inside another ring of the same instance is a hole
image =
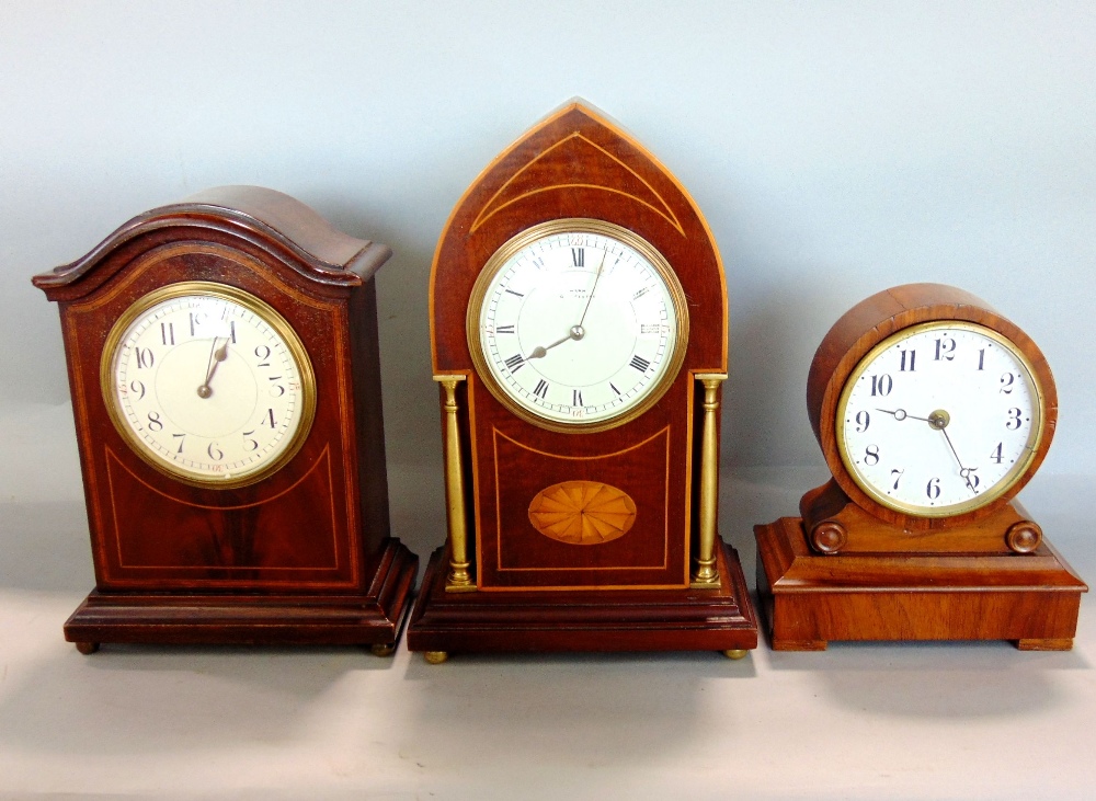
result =
[[[981,334],[986,339],[993,340],[1012,353],[1019,365],[1024,368],[1024,371],[1027,373],[1029,385],[1035,388],[1037,403],[1036,408],[1032,409],[1032,414],[1038,416],[1038,421],[1036,425],[1031,426],[1031,434],[1028,435],[1027,456],[1024,459],[1017,459],[1016,464],[1007,473],[1005,473],[1004,478],[997,482],[996,487],[994,487],[991,492],[978,495],[969,501],[963,501],[962,503],[952,504],[950,506],[926,508],[924,506],[915,506],[898,502],[889,495],[879,492],[867,481],[861,480],[853,460],[848,457],[847,446],[845,443],[845,426],[842,421],[845,417],[845,410],[848,407],[848,399],[853,392],[853,387],[881,353],[890,347],[893,347],[898,342],[902,342],[903,340],[915,336],[925,331],[934,331],[937,329],[960,329],[973,331],[974,333]],[[837,409],[834,416],[834,434],[837,445],[837,454],[841,456],[841,461],[845,467],[845,471],[848,473],[849,478],[853,479],[856,485],[859,487],[860,490],[863,490],[872,501],[886,506],[887,508],[901,512],[902,514],[911,515],[913,517],[958,517],[959,515],[980,510],[994,503],[997,499],[1006,494],[1013,487],[1015,487],[1016,483],[1027,473],[1028,468],[1031,466],[1031,461],[1035,459],[1036,451],[1039,449],[1039,443],[1042,442],[1046,420],[1047,410],[1043,388],[1039,384],[1039,380],[1036,377],[1035,368],[1031,366],[1027,356],[1025,356],[1011,340],[1000,332],[979,323],[967,322],[963,320],[933,320],[895,331],[868,351],[868,353],[856,364],[856,367],[853,368],[853,371],[849,373],[848,378],[845,380],[845,386],[842,388],[841,397],[837,400]]]

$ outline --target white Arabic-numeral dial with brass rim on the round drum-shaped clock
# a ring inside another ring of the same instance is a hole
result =
[[[1043,434],[1043,398],[1019,350],[991,329],[937,321],[892,334],[837,403],[837,447],[884,506],[945,517],[1000,497]]]

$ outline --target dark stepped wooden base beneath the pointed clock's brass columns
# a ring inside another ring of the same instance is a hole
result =
[[[756,615],[734,549],[717,538],[718,590],[446,593],[448,558],[431,556],[408,648],[433,664],[459,652],[724,651],[757,646]]]

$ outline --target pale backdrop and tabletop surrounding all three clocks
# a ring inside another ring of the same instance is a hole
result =
[[[396,534],[442,542],[426,289],[494,156],[581,95],[688,187],[731,304],[721,533],[825,476],[807,369],[894,284],[958,284],[1058,377],[1021,497],[1082,576],[1091,499],[1096,3],[0,0],[0,797],[1089,799],[1096,595],[1076,648],[763,644],[458,655],[107,646],[57,311],[32,274],[228,183],[390,244],[379,278]],[[1072,476],[1066,473],[1073,473]]]

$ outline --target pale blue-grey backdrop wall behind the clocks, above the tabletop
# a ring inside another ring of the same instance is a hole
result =
[[[439,525],[434,244],[480,170],[574,95],[676,173],[721,248],[724,476],[822,465],[814,348],[913,281],[1041,345],[1061,420],[1037,480],[1093,473],[1094,42],[1089,2],[0,2],[0,492],[80,493],[57,313],[31,275],[251,183],[396,251],[389,459],[397,494],[427,499],[396,512]]]

